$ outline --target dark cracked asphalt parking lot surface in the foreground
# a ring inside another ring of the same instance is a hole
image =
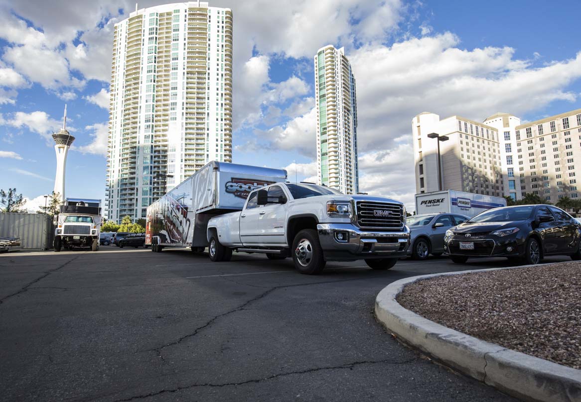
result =
[[[373,316],[392,281],[507,265],[436,258],[373,271],[361,261],[304,276],[256,254],[3,254],[1,399],[512,400],[404,347]]]

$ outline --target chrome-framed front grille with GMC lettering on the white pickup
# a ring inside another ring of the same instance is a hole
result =
[[[357,201],[357,224],[374,229],[403,229],[403,207],[387,202]]]

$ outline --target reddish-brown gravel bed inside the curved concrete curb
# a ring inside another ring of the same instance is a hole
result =
[[[464,334],[581,369],[579,262],[422,280],[397,302]]]

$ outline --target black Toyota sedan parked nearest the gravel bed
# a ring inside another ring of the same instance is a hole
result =
[[[581,259],[581,224],[553,205],[489,209],[446,231],[444,250],[453,262],[469,257],[508,257],[537,264],[548,255]]]

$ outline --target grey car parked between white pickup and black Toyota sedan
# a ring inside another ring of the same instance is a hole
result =
[[[406,225],[410,228],[410,245],[407,255],[414,260],[425,260],[430,254],[440,256],[444,252],[444,234],[468,220],[468,216],[457,213],[426,213],[408,216]]]

